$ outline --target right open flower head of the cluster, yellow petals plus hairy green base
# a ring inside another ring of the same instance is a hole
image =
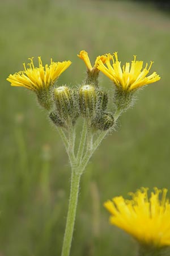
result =
[[[143,61],[136,60],[136,56],[134,56],[131,64],[126,63],[121,67],[117,52],[114,52],[113,55],[109,53],[106,56],[107,60],[104,62],[102,59],[99,60],[97,68],[116,85],[113,103],[115,108],[121,112],[134,105],[135,92],[139,88],[160,80],[160,76],[156,72],[147,76],[153,64],[152,61],[150,65],[146,63],[145,68],[143,68]]]

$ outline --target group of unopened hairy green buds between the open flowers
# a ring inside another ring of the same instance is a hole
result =
[[[56,126],[68,128],[79,115],[95,130],[108,130],[114,118],[107,112],[108,94],[94,85],[82,85],[72,89],[66,85],[54,88],[53,108],[49,118]]]

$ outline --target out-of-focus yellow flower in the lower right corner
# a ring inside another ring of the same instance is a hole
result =
[[[129,193],[132,200],[118,196],[105,202],[104,207],[112,214],[110,222],[143,245],[170,246],[170,204],[166,199],[167,189],[154,188],[149,199],[147,190],[142,188]]]

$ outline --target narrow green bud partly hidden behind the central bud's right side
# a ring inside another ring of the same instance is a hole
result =
[[[97,113],[105,112],[108,106],[108,94],[103,90],[97,91],[97,103],[96,103],[96,111]]]

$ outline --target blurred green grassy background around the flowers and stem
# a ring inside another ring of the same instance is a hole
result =
[[[44,63],[71,60],[58,84],[76,86],[92,61],[118,51],[155,63],[162,79],[139,95],[122,115],[117,131],[104,139],[84,172],[79,193],[74,256],[131,256],[135,242],[110,226],[103,202],[142,186],[169,188],[170,19],[154,6],[129,1],[6,0],[0,3],[1,171],[0,255],[57,256],[61,253],[70,189],[65,149],[35,94],[11,87],[10,73],[28,57]],[[100,75],[103,88],[112,82]]]

